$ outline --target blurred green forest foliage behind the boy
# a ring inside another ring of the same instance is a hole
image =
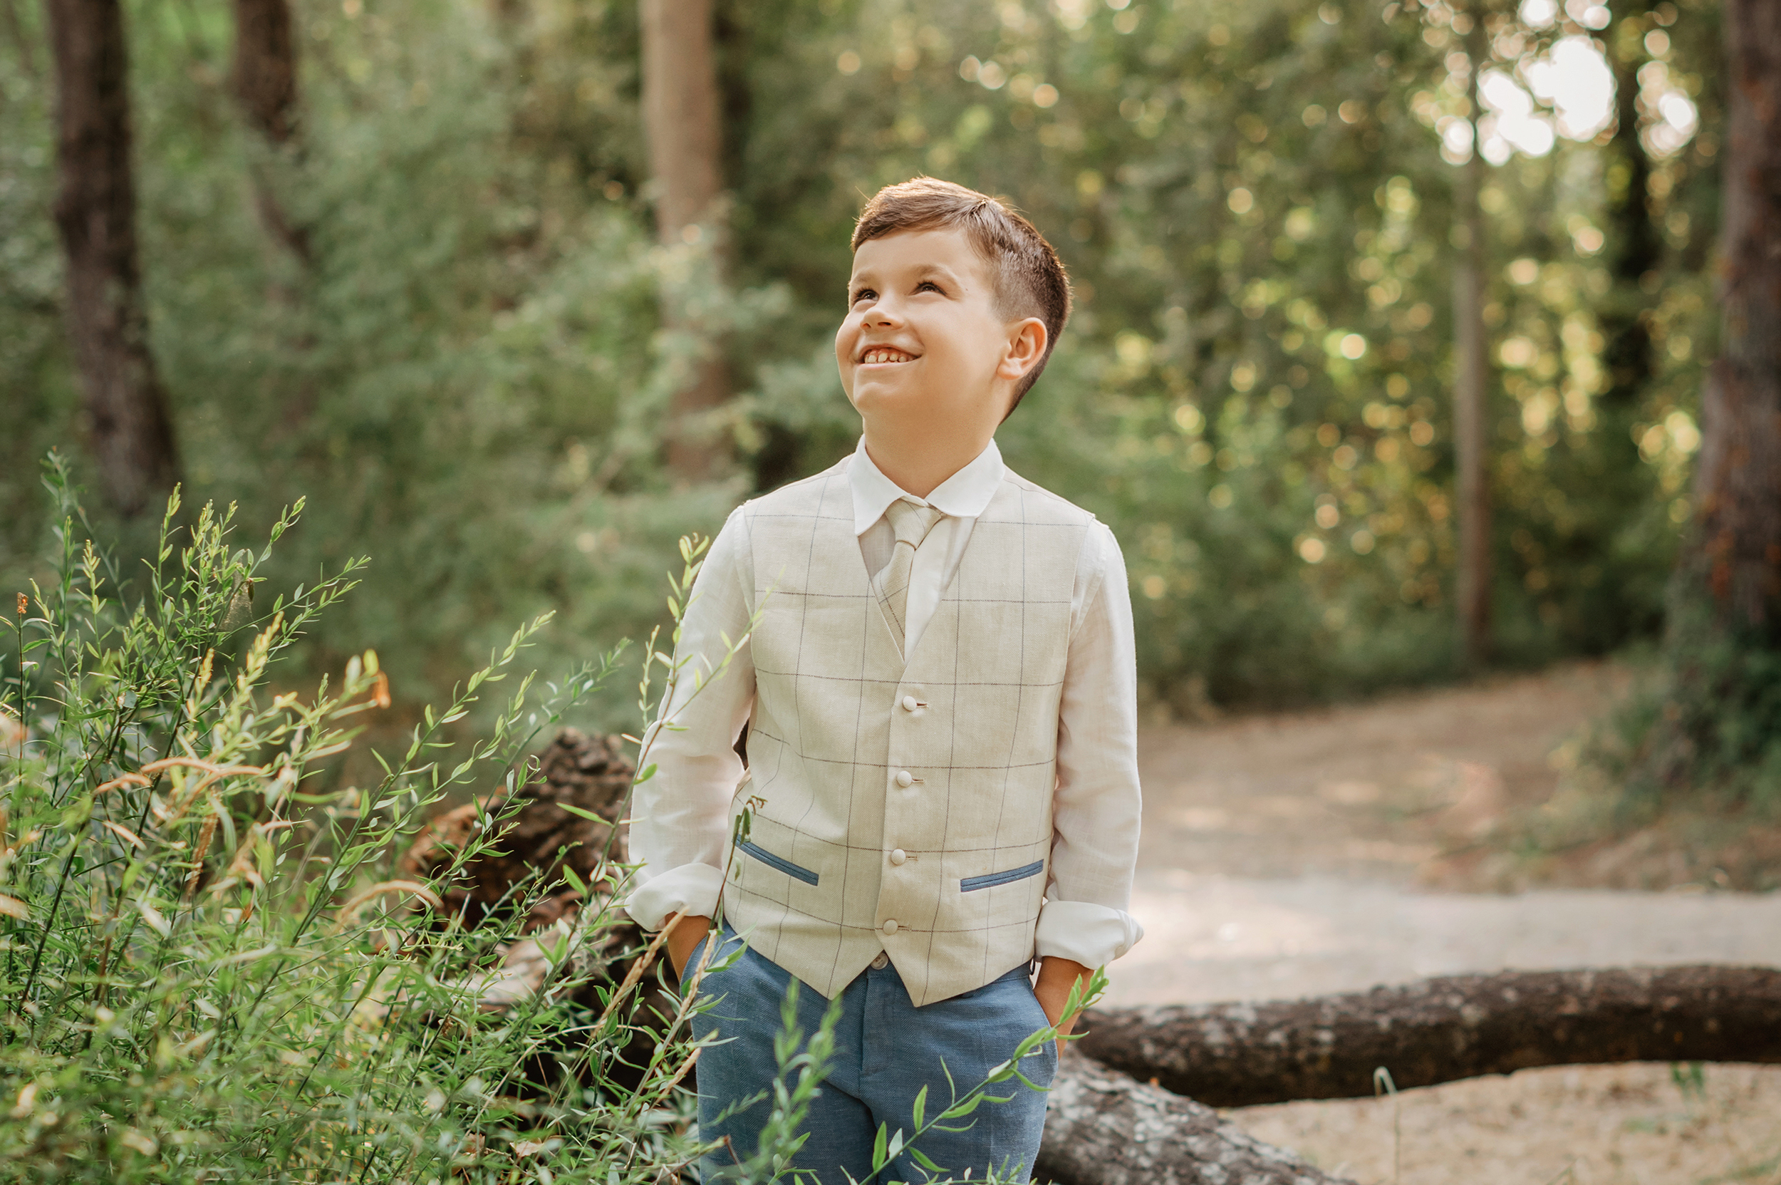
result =
[[[1719,333],[1717,5],[723,0],[723,198],[666,241],[636,5],[292,12],[280,137],[242,118],[228,5],[123,4],[185,501],[264,524],[306,494],[278,588],[374,560],[287,679],[376,645],[411,707],[541,609],[565,665],[645,636],[682,533],[853,447],[848,232],[917,173],[1006,194],[1070,269],[1078,314],[999,442],[1118,535],[1149,702],[1313,702],[1478,658],[1455,629],[1473,242],[1487,658],[1662,627]],[[98,481],[45,18],[0,16],[0,572],[23,588],[43,454]],[[689,470],[668,458],[702,374],[725,397]]]

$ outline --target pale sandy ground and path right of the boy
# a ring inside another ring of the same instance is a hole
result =
[[[1468,886],[1441,855],[1544,800],[1553,752],[1622,684],[1612,666],[1573,665],[1147,731],[1133,898],[1145,941],[1110,968],[1108,1003],[1500,968],[1781,964],[1781,893],[1450,891]],[[1232,1116],[1364,1185],[1781,1185],[1781,1067],[1708,1066],[1699,1082],[1669,1066],[1555,1067]]]

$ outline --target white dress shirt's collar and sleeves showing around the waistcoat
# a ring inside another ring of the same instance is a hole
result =
[[[896,549],[896,531],[885,519],[890,503],[901,497],[946,515],[915,549],[905,654],[933,618],[1003,472],[1001,451],[992,440],[976,460],[921,499],[890,481],[860,438],[848,483],[867,572],[876,574],[890,563]],[[1058,707],[1051,884],[1033,937],[1038,957],[1058,955],[1090,968],[1118,959],[1143,937],[1143,927],[1126,912],[1142,807],[1131,595],[1113,533],[1095,526],[1090,535],[1095,554],[1083,565],[1070,599],[1070,649]],[[677,654],[700,656],[695,659],[698,670],[716,665],[728,649],[723,636],[739,638],[748,629],[744,592],[720,535],[682,617]],[[707,682],[696,697],[693,686],[689,665],[668,709],[677,727],[657,723],[650,729],[648,761],[657,770],[638,788],[632,807],[630,854],[643,868],[625,909],[647,930],[661,928],[680,909],[711,916],[718,907],[728,804],[743,777],[732,747],[755,695],[746,643],[725,677]]]

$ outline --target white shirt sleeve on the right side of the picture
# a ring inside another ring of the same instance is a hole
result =
[[[1095,524],[1083,543],[1053,795],[1051,880],[1033,937],[1044,959],[1099,968],[1131,950],[1143,927],[1127,911],[1138,862],[1138,670],[1126,561]]]

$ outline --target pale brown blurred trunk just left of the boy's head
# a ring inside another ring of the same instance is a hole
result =
[[[712,48],[711,0],[639,0],[643,30],[643,130],[655,180],[655,228],[668,246],[709,242],[721,266],[718,196],[723,125]],[[670,330],[696,333],[686,292],[666,285],[663,319]],[[709,349],[716,342],[707,342]],[[730,396],[723,358],[698,358],[670,405],[668,467],[682,481],[711,478],[727,449],[700,419]]]

